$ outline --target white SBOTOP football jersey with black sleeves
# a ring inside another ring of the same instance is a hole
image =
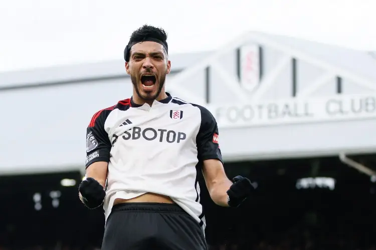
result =
[[[222,161],[218,126],[206,108],[172,98],[143,105],[132,98],[94,114],[87,128],[86,167],[108,162],[105,219],[116,198],[169,196],[205,229],[199,171]]]

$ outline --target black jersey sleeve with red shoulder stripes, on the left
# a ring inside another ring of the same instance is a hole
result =
[[[93,162],[110,160],[111,142],[104,129],[107,115],[107,110],[95,113],[86,128],[86,168]]]

